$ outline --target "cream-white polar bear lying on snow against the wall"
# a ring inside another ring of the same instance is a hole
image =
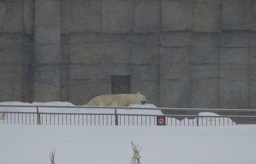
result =
[[[129,106],[130,104],[145,104],[147,100],[140,92],[135,94],[101,95],[93,98],[88,106]]]

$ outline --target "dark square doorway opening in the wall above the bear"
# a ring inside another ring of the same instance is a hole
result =
[[[111,94],[131,93],[131,75],[112,76],[111,79]]]

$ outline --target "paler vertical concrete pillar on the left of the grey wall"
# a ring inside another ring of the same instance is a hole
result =
[[[61,2],[35,0],[34,101],[60,100]]]

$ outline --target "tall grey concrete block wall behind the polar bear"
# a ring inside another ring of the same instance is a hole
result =
[[[0,101],[256,109],[256,0],[0,0]]]

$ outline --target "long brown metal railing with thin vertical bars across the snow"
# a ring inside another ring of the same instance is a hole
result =
[[[253,109],[180,109],[180,108],[131,108],[113,106],[13,106],[0,105],[7,110],[0,111],[0,123],[8,124],[44,124],[44,125],[157,125],[158,115],[121,114],[118,109],[161,110],[166,114],[167,126],[225,126],[225,125],[255,125],[256,110]],[[12,108],[15,112],[8,111]],[[17,112],[21,108],[33,108],[35,112]],[[68,109],[113,109],[113,113],[72,113],[72,112],[40,112],[47,108]],[[209,112],[201,115],[202,112]],[[187,114],[177,114],[187,113]],[[228,115],[212,115],[226,113]],[[241,115],[242,114],[242,115]]]

